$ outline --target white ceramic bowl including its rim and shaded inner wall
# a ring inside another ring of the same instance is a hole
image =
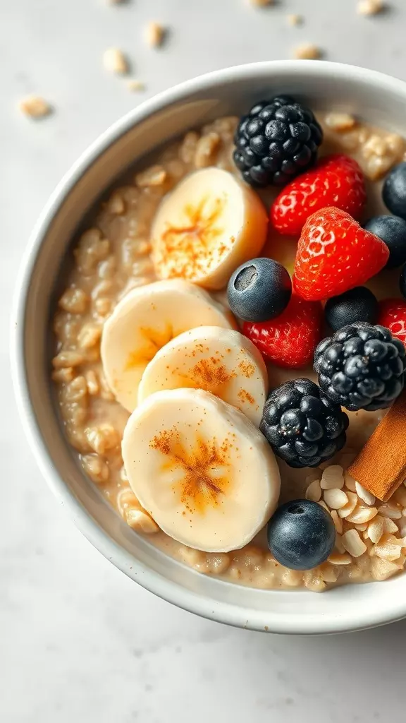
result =
[[[28,244],[12,319],[12,369],[20,414],[43,476],[83,534],[134,581],[179,607],[275,633],[337,633],[406,615],[406,575],[321,595],[264,591],[201,575],[137,536],[89,482],[66,442],[50,384],[50,317],[69,242],[101,193],[130,164],[171,137],[275,93],[303,96],[405,133],[406,84],[320,61],[276,61],[204,75],[161,93],[106,131],[64,177]]]

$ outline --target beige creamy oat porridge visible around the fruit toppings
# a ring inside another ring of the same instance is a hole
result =
[[[380,213],[376,181],[402,160],[405,142],[395,134],[355,123],[347,114],[327,114],[321,123],[325,130],[322,153],[340,150],[358,160],[369,179],[366,217]],[[281,500],[306,494],[308,499],[327,505],[336,526],[332,555],[319,568],[304,573],[275,562],[267,549],[264,531],[236,552],[206,553],[185,547],[160,531],[139,505],[126,478],[121,439],[129,413],[116,402],[103,375],[103,323],[128,291],[155,281],[150,227],[164,195],[197,168],[217,166],[238,174],[232,161],[236,124],[236,118],[218,119],[170,145],[153,166],[111,193],[95,215],[93,226],[80,237],[74,249],[74,268],[53,322],[53,380],[66,436],[79,453],[87,476],[129,526],[150,535],[151,541],[168,555],[202,573],[264,589],[304,585],[314,591],[348,581],[383,580],[402,570],[405,563],[401,538],[406,535],[406,488],[402,485],[390,502],[382,504],[345,474],[383,416],[382,411],[350,413],[347,445],[321,468],[291,469],[278,461]],[[272,198],[268,192],[263,197],[267,202]],[[281,241],[274,232],[262,255],[279,260],[291,273],[295,241],[286,237]],[[378,298],[393,296],[394,278],[386,271],[368,286]],[[223,294],[217,296],[221,299]],[[314,373],[269,366],[271,388],[298,376],[314,378]]]

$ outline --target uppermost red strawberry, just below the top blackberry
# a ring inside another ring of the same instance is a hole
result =
[[[271,221],[280,234],[298,236],[309,215],[321,208],[335,206],[360,218],[365,203],[365,181],[357,161],[327,155],[285,186],[272,204]]]

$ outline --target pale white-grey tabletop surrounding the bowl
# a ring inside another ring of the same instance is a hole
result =
[[[406,4],[380,17],[356,0],[0,0],[0,721],[1,723],[342,723],[405,719],[406,623],[334,638],[234,630],[170,607],[106,562],[56,505],[22,437],[9,381],[9,302],[27,236],[56,181],[142,99],[108,77],[129,53],[144,97],[207,70],[326,58],[406,79]],[[288,12],[305,17],[289,27]],[[149,20],[170,27],[144,45]],[[26,93],[55,106],[16,110]],[[377,99],[379,102],[379,99]]]

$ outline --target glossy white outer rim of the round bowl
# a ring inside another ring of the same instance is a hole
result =
[[[202,74],[191,80],[181,82],[148,100],[144,100],[139,106],[133,108],[129,113],[113,123],[87,147],[87,150],[79,156],[77,161],[75,161],[69,171],[67,171],[61,181],[59,181],[59,184],[57,184],[40,213],[38,221],[35,223],[33,231],[30,234],[17,275],[17,286],[14,292],[11,315],[10,359],[12,382],[19,416],[40,472],[46,479],[48,487],[51,488],[53,494],[56,495],[61,505],[66,508],[73,518],[75,525],[107,560],[113,562],[118,569],[126,573],[127,576],[139,583],[144,589],[149,590],[161,599],[165,599],[167,602],[175,604],[177,607],[193,612],[201,617],[236,627],[249,628],[251,630],[267,630],[273,633],[290,633],[295,635],[315,635],[350,632],[392,623],[405,617],[406,600],[402,602],[402,596],[399,596],[398,600],[394,599],[390,609],[387,609],[387,607],[384,609],[374,609],[372,605],[368,606],[368,609],[364,608],[360,611],[362,615],[359,612],[357,615],[351,615],[350,619],[347,620],[342,620],[342,618],[337,619],[334,615],[324,615],[311,623],[309,623],[308,620],[301,622],[299,616],[295,620],[292,620],[292,617],[282,617],[281,619],[280,614],[274,615],[272,610],[268,610],[267,627],[265,627],[262,624],[263,621],[259,624],[255,616],[253,616],[253,620],[251,621],[246,620],[246,615],[243,610],[238,613],[236,606],[232,606],[227,602],[214,603],[210,601],[210,599],[196,594],[189,589],[181,588],[178,583],[163,578],[150,568],[142,565],[141,562],[134,560],[134,557],[114,542],[114,540],[108,536],[107,532],[90,516],[87,510],[82,507],[79,500],[74,497],[73,492],[71,492],[61,476],[59,476],[58,472],[54,469],[51,455],[43,439],[30,403],[24,354],[27,293],[30,288],[30,278],[35,268],[40,247],[48,232],[48,227],[61,208],[61,205],[64,204],[66,197],[98,156],[102,155],[113,142],[116,142],[121,135],[128,132],[135,124],[147,119],[148,116],[160,111],[171,103],[186,100],[191,93],[215,89],[218,85],[222,85],[224,82],[230,82],[230,80],[243,80],[253,75],[256,78],[264,77],[265,79],[269,72],[275,75],[278,72],[283,73],[287,71],[295,72],[299,80],[300,77],[306,77],[309,72],[318,77],[332,77],[334,74],[340,77],[347,75],[351,77],[352,80],[366,82],[367,85],[375,87],[384,85],[386,89],[392,90],[393,93],[404,95],[406,98],[406,82],[375,70],[329,61],[282,60],[243,64],[215,70],[214,72]]]

